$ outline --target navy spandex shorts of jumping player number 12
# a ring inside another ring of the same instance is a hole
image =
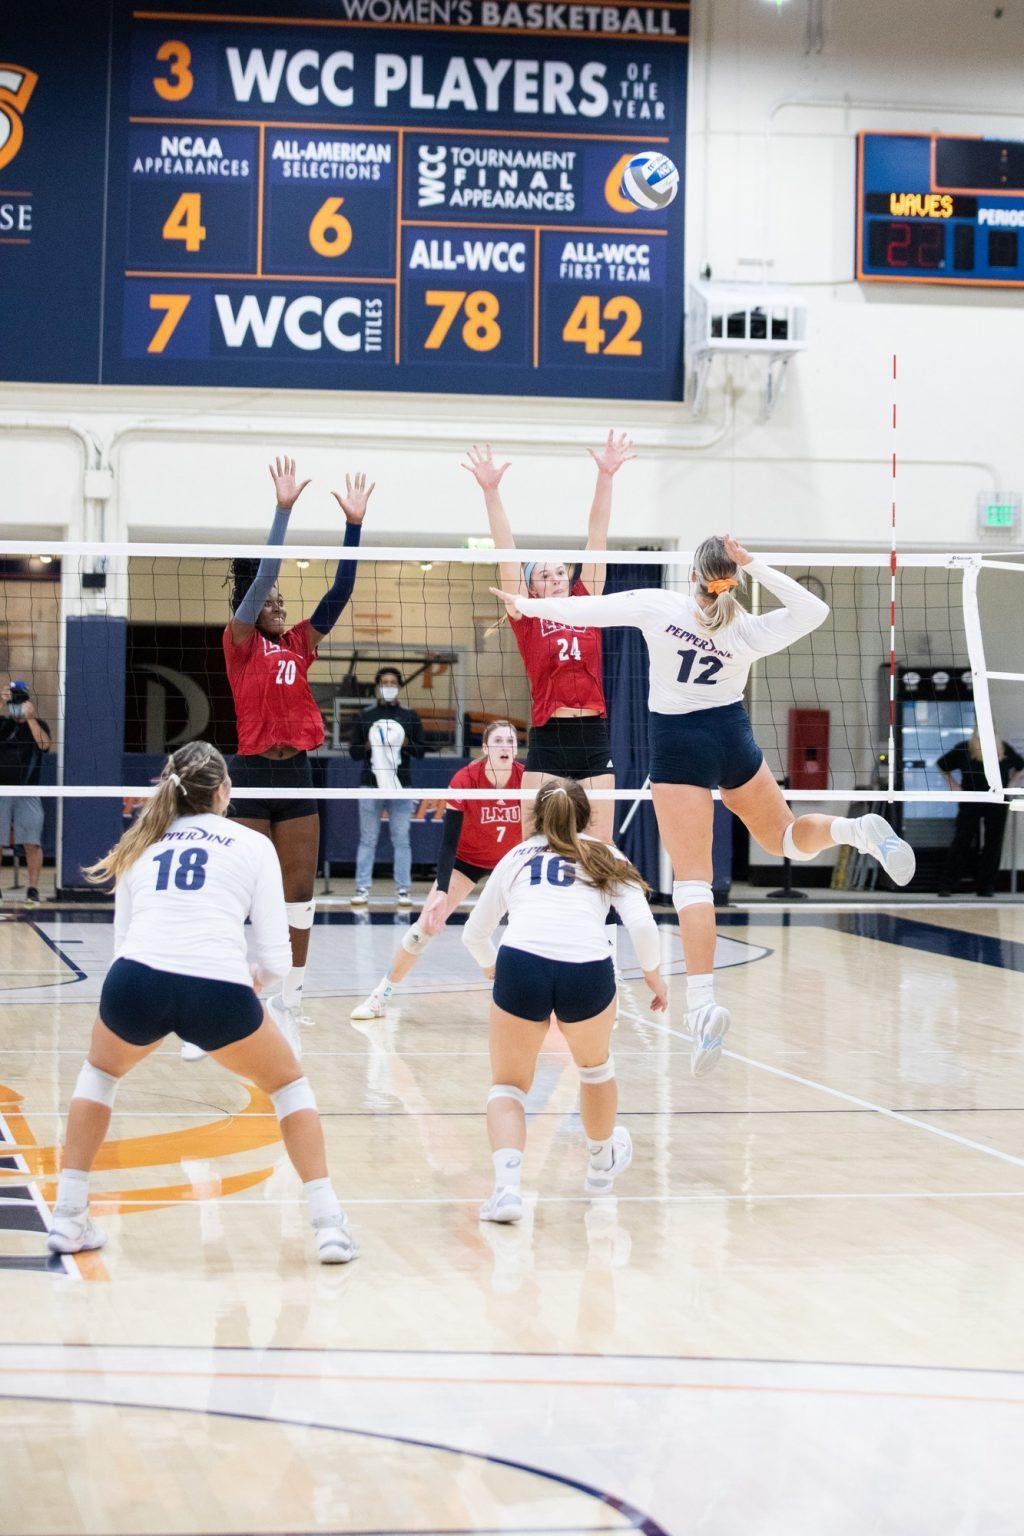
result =
[[[651,714],[651,783],[738,790],[765,762],[742,703],[692,714]]]

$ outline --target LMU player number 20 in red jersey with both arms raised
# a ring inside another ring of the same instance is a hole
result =
[[[275,459],[270,479],[276,511],[269,544],[284,544],[289,518],[309,481],[295,478],[295,459]],[[373,485],[365,475],[345,475],[345,495],[332,492],[345,515],[345,548],[359,544]],[[301,1051],[302,983],[316,902],[319,816],[313,799],[281,800],[281,788],[312,788],[307,753],[324,740],[324,720],[310,693],[307,673],[316,647],[342,614],[356,579],[356,561],[339,561],[335,579],[309,619],[289,628],[276,585],[281,561],[232,561],[232,619],[224,630],[227,679],[238,716],[238,753],[230,759],[236,788],[259,788],[264,799],[239,800],[230,816],[273,842],[284,876],[292,937],[292,966],[279,997],[267,1001],[270,1017]]]

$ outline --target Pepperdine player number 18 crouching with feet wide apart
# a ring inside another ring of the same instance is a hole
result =
[[[68,1112],[48,1238],[54,1253],[106,1243],[89,1217],[89,1169],[121,1078],[177,1034],[270,1095],[302,1180],[321,1263],[345,1264],[356,1255],[327,1175],[313,1091],[253,989],[253,982],[279,982],[292,951],[278,856],[266,837],[224,820],[230,793],[221,754],[207,742],[189,742],[167,759],[157,793],[117,846],[86,869],[94,883],[117,882],[115,960]]]

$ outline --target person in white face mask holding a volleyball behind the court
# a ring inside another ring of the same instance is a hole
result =
[[[408,790],[410,762],[427,751],[424,722],[415,710],[398,702],[402,674],[396,667],[381,667],[373,679],[376,703],[364,710],[352,727],[348,750],[362,762],[359,783],[367,790]],[[356,891],[353,906],[365,906],[373,885],[373,860],[387,808],[391,848],[395,849],[395,888],[399,906],[411,906],[413,849],[410,823],[413,800],[359,800],[359,849],[356,852]]]

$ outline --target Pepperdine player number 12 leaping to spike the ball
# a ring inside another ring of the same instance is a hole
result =
[[[752,576],[783,604],[749,614],[735,588]],[[814,859],[849,843],[870,854],[897,885],[913,879],[909,843],[881,816],[794,817],[754,740],[743,705],[751,665],[809,634],[827,604],[749,554],[731,535],[705,539],[694,554],[692,596],[648,588],[609,598],[514,598],[531,617],[602,628],[634,625],[651,659],[651,797],[672,860],[672,902],[686,957],[686,1023],[694,1035],[691,1071],[709,1072],[722,1054],[729,1014],[714,997],[715,915],[711,894],[712,790],[769,854]]]

